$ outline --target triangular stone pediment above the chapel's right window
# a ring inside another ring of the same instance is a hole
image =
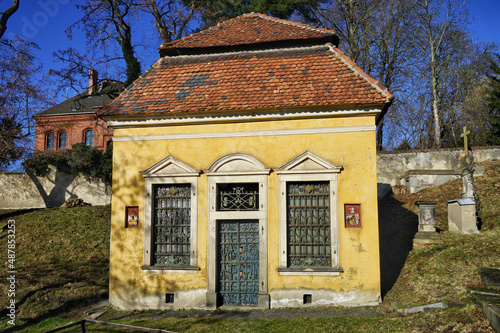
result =
[[[302,154],[292,158],[280,168],[276,168],[277,174],[287,173],[338,173],[342,170],[341,165],[335,165],[318,155],[306,150]]]

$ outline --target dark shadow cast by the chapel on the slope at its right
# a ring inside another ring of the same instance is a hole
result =
[[[378,201],[382,297],[396,283],[418,231],[418,215],[402,205],[392,194]]]

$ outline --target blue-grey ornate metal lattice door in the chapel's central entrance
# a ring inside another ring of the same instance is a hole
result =
[[[218,234],[221,305],[257,306],[259,293],[258,221],[219,221]]]

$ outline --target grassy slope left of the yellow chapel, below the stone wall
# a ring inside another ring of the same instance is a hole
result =
[[[17,328],[53,316],[75,316],[106,297],[109,268],[109,207],[52,208],[0,213],[0,226],[16,221]],[[0,248],[7,249],[7,231]],[[4,259],[5,260],[5,259]],[[7,295],[5,269],[1,294]],[[0,298],[4,309],[8,298]],[[5,326],[4,311],[0,329]]]

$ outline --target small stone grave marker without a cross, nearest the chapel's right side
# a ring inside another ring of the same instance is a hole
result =
[[[413,238],[413,248],[443,244],[436,232],[436,201],[417,201],[418,232]]]

